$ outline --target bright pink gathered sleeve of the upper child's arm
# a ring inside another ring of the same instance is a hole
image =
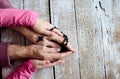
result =
[[[0,9],[0,27],[33,27],[37,18],[38,13],[30,10]]]

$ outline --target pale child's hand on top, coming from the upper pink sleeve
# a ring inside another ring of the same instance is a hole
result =
[[[53,26],[49,22],[46,22],[42,19],[37,19],[33,27],[33,30],[42,35],[45,35],[46,38],[49,40],[56,41],[59,44],[63,43],[64,41],[63,34],[58,29],[50,31],[51,28],[53,28]],[[66,47],[68,48],[69,51],[74,52],[74,48],[71,46],[69,42]]]

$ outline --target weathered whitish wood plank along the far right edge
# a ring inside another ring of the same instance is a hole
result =
[[[101,0],[106,79],[120,79],[120,1]]]

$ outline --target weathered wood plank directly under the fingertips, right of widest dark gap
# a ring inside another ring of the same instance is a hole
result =
[[[51,21],[69,36],[76,52],[55,66],[55,79],[80,79],[74,0],[50,0]]]

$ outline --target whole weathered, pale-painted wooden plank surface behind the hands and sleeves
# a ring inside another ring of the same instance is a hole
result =
[[[63,64],[43,69],[31,79],[120,79],[120,0],[10,1],[16,8],[38,11],[68,35],[76,50]],[[1,41],[26,43],[11,29],[1,30]],[[3,79],[19,64],[3,68]]]

